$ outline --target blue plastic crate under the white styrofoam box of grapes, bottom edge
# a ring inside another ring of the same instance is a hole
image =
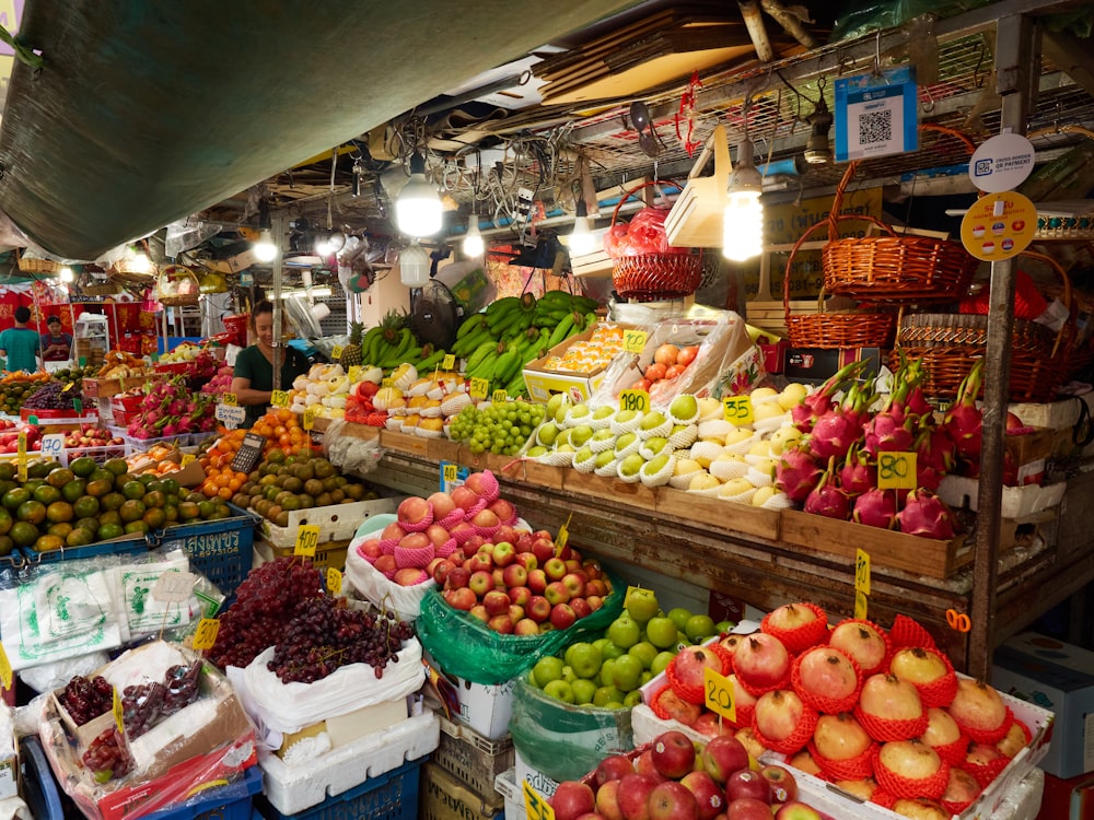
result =
[[[418,776],[429,757],[370,777],[296,815],[282,815],[265,797],[255,806],[266,820],[418,820]]]

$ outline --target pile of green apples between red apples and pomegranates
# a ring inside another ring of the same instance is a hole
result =
[[[709,616],[661,611],[651,589],[632,588],[624,609],[603,636],[536,661],[528,683],[563,703],[627,708],[641,703],[640,688],[665,670],[680,646],[719,631]]]

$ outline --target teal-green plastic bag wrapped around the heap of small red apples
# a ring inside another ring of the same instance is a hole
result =
[[[604,599],[603,607],[568,629],[539,635],[494,632],[477,618],[450,607],[434,589],[426,595],[421,616],[415,623],[418,637],[437,665],[449,675],[485,686],[504,683],[519,678],[546,655],[556,655],[572,643],[602,635],[622,611],[627,589],[622,579],[610,572],[607,575],[613,591]]]

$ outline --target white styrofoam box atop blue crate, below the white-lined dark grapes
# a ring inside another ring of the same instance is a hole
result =
[[[263,751],[258,765],[266,774],[266,798],[282,815],[295,815],[369,777],[389,772],[406,760],[429,754],[440,739],[437,715],[426,711],[298,766]]]

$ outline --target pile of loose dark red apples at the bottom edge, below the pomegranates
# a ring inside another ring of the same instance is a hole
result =
[[[695,745],[666,731],[633,754],[605,758],[551,797],[556,820],[823,820],[799,798],[793,774],[760,768],[740,741]]]

